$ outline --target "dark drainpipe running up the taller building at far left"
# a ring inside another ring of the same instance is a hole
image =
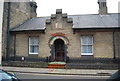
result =
[[[10,10],[11,2],[8,2],[8,19],[7,19],[7,41],[6,41],[6,61],[9,61],[10,51]]]

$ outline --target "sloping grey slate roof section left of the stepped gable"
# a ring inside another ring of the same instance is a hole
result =
[[[48,17],[33,17],[12,28],[11,31],[45,30],[46,19]]]

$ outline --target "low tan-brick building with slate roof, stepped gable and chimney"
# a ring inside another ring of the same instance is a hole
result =
[[[62,9],[48,17],[33,17],[10,29],[10,57],[15,61],[73,62],[118,58],[118,13],[67,15]]]

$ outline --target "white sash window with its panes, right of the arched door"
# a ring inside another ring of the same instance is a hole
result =
[[[81,55],[93,55],[93,36],[81,36]]]

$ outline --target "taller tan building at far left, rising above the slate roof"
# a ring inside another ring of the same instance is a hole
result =
[[[8,49],[7,38],[9,29],[14,26],[36,17],[36,2],[4,2],[3,12],[3,37],[2,37],[2,54],[3,59],[6,58],[6,52]],[[12,48],[11,48],[12,49]]]

